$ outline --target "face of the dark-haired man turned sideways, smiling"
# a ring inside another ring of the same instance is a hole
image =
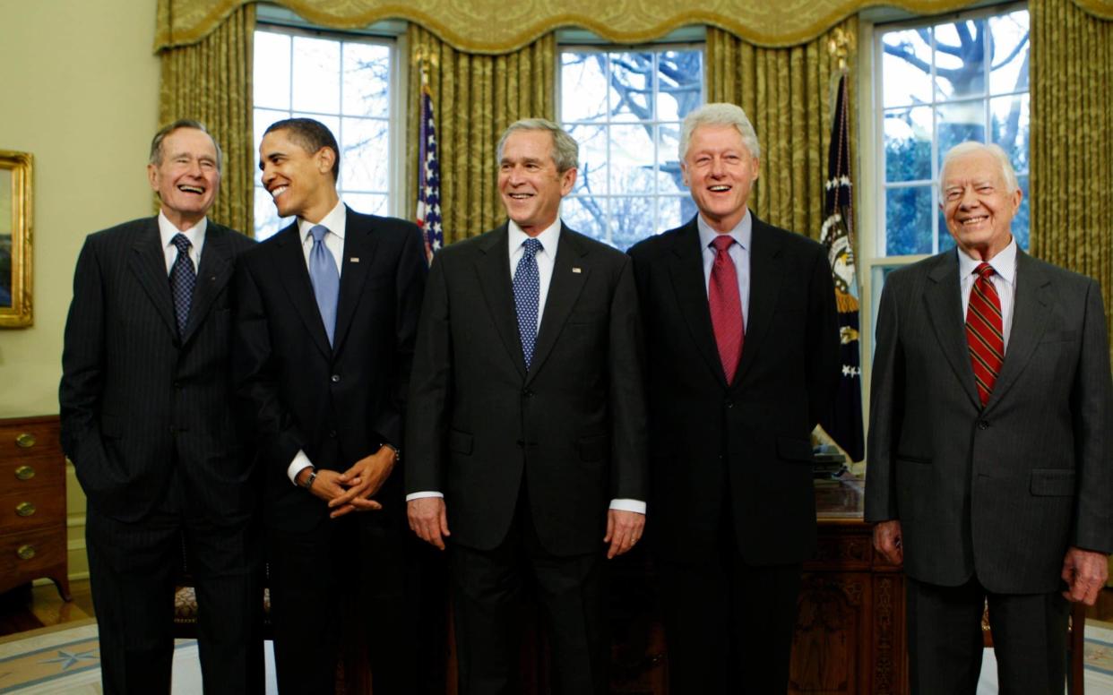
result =
[[[309,152],[286,130],[272,130],[263,137],[259,143],[263,187],[274,198],[279,216],[296,215],[316,221],[332,209],[336,190],[332,175],[334,157],[327,147]],[[315,215],[318,210],[319,216]]]

